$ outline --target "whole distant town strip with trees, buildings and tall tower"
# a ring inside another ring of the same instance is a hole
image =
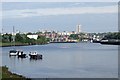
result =
[[[13,28],[14,29],[14,28]],[[77,42],[100,42],[101,40],[119,41],[119,32],[107,33],[85,33],[81,30],[81,25],[76,26],[76,31],[49,31],[42,30],[38,32],[21,33],[20,31],[11,33],[1,33],[1,42],[24,44],[47,44],[47,43],[77,43]],[[15,38],[13,38],[13,36]]]

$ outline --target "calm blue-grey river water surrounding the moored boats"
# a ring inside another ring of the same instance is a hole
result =
[[[52,43],[17,46],[27,55],[37,51],[42,60],[9,57],[13,47],[2,48],[2,65],[29,78],[117,78],[118,46],[97,43]]]

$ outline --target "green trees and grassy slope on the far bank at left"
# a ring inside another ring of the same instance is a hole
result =
[[[32,33],[28,33],[32,34]],[[27,37],[27,34],[19,34],[17,33],[15,36],[12,34],[4,34],[0,35],[0,46],[13,46],[14,45],[14,38],[15,38],[15,45],[33,45],[33,44],[46,44],[49,39],[45,36],[38,36],[38,39],[30,39]]]

